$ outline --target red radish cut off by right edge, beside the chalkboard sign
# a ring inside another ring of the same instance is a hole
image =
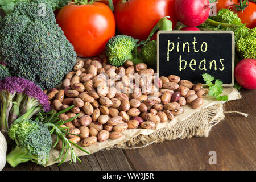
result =
[[[256,59],[241,60],[236,65],[234,75],[243,88],[256,89]]]

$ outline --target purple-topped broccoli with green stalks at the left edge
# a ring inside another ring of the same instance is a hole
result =
[[[51,108],[47,95],[34,82],[20,77],[0,80],[0,106],[0,129],[5,135],[12,123]]]

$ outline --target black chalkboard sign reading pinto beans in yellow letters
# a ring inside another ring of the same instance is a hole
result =
[[[234,85],[233,31],[159,31],[159,76],[177,75],[182,80],[202,82],[209,73]]]

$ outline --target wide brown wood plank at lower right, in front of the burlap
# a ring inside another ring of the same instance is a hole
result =
[[[166,141],[138,150],[125,150],[136,170],[255,170],[255,91],[243,90],[242,100],[225,104],[226,110],[250,114],[226,114],[207,138]],[[210,165],[209,151],[217,164]]]

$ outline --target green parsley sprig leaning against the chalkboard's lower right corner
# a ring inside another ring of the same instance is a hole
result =
[[[215,97],[218,101],[228,101],[228,96],[221,96],[222,92],[223,92],[223,87],[221,86],[223,84],[223,82],[221,80],[218,80],[209,75],[208,73],[204,73],[202,75],[202,77],[204,78],[205,83],[207,84],[207,86],[209,87],[209,96],[213,96]],[[213,81],[215,80],[214,84]]]

